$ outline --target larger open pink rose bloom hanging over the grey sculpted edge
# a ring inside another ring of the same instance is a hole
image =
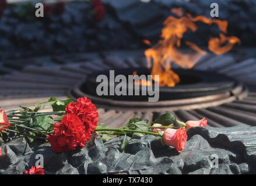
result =
[[[164,144],[174,146],[178,152],[181,152],[185,148],[187,138],[188,136],[184,127],[181,127],[178,130],[167,128],[163,134]]]

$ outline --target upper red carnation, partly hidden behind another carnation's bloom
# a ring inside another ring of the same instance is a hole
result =
[[[99,121],[96,106],[86,97],[78,98],[76,103],[69,103],[66,106],[66,114],[75,114],[80,118],[85,125],[85,133],[88,137],[86,141],[89,141]]]

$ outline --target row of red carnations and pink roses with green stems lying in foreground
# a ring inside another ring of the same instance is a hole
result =
[[[108,128],[98,124],[99,114],[96,106],[86,97],[79,98],[77,102],[72,102],[70,98],[60,101],[50,98],[48,101],[30,106],[35,108],[20,106],[19,110],[0,110],[1,136],[12,133],[13,138],[26,137],[30,142],[34,139],[45,140],[50,142],[55,152],[72,151],[78,146],[84,147],[93,133],[101,135],[104,141],[110,140],[113,135],[124,135],[120,144],[121,151],[124,151],[129,143],[127,136],[155,135],[160,137],[162,144],[174,146],[181,152],[187,141],[186,131],[191,127],[207,126],[205,119],[184,123],[176,120],[171,113],[165,113],[151,123],[135,118],[124,127]],[[38,112],[45,106],[51,106],[53,112]],[[173,126],[175,120],[181,127]]]

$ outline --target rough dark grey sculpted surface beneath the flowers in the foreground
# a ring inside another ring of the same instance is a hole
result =
[[[103,144],[99,136],[76,151],[55,153],[50,144],[29,145],[23,138],[1,146],[1,174],[23,174],[43,155],[45,174],[253,174],[256,167],[256,127],[196,127],[188,131],[183,152],[162,146],[152,135],[122,137]]]

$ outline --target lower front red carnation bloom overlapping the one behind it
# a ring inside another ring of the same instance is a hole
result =
[[[85,126],[75,114],[64,116],[61,123],[54,124],[54,134],[47,137],[51,148],[55,152],[72,151],[77,146],[85,146],[89,141],[90,133],[85,133]]]

